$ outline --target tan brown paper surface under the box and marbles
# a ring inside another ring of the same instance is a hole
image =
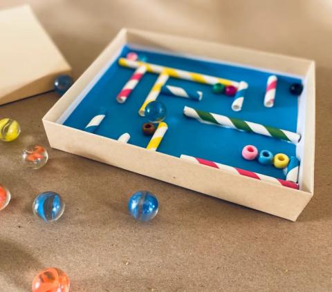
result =
[[[58,97],[17,101],[0,107],[23,130],[0,144],[0,182],[12,192],[0,213],[1,292],[30,291],[46,266],[68,273],[71,292],[332,291],[332,1],[2,0],[0,8],[26,2],[75,77],[124,26],[315,59],[315,196],[292,223],[58,150],[27,171],[21,150],[48,146],[41,119]],[[127,199],[142,188],[160,201],[148,224],[127,213]],[[31,211],[46,190],[66,201],[55,224]]]

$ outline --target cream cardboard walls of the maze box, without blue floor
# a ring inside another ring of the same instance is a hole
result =
[[[286,188],[210,168],[191,164],[171,155],[151,152],[114,139],[86,133],[62,123],[95,82],[118,57],[126,43],[178,54],[204,56],[210,59],[305,76],[304,93],[299,98],[297,144],[301,157],[299,190]],[[50,146],[69,153],[95,159],[113,166],[190,188],[194,191],[255,208],[295,221],[313,196],[315,146],[315,64],[311,60],[273,55],[266,52],[161,35],[133,29],[122,29],[93,64],[43,118]],[[84,143],[82,143],[84,141]],[[208,183],[207,183],[208,182]]]

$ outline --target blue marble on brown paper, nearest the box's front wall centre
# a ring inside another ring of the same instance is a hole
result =
[[[149,221],[158,213],[158,200],[148,191],[138,191],[130,197],[128,208],[136,220]]]

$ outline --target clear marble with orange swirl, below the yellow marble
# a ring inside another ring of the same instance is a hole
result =
[[[33,169],[42,168],[48,160],[48,153],[44,146],[35,144],[26,147],[22,153],[22,161]]]

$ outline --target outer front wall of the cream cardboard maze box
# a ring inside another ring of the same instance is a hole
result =
[[[310,193],[185,162],[113,139],[44,121],[50,146],[295,221]],[[89,141],[89,143],[82,143]],[[208,184],[206,182],[209,182]],[[268,190],[268,191],[267,191]]]

